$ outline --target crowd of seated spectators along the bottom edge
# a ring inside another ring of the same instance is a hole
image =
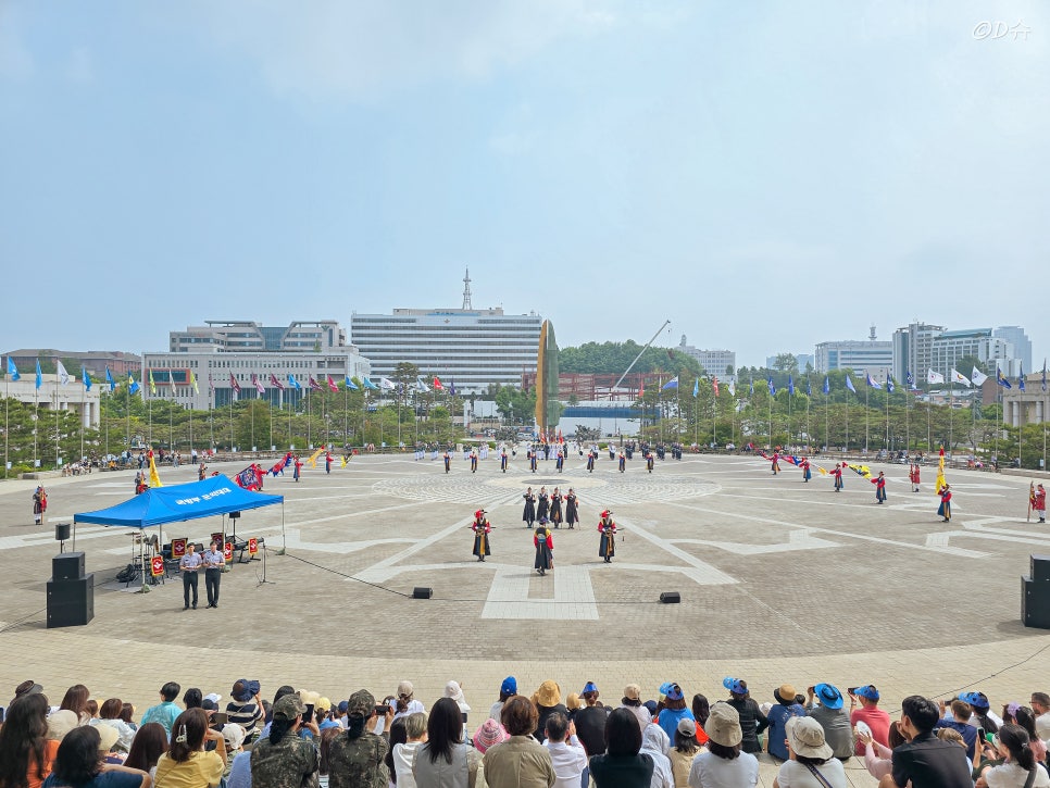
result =
[[[873,685],[783,684],[767,700],[723,686],[709,700],[668,681],[642,700],[627,685],[607,702],[595,683],[526,696],[508,676],[478,720],[457,681],[429,709],[411,681],[337,702],[282,686],[271,701],[241,678],[225,704],[168,681],[136,721],[80,684],[52,705],[29,680],[0,717],[0,788],[746,788],[760,759],[774,788],[846,788],[847,770],[879,788],[1050,788],[1045,692],[1001,713],[982,692],[910,696],[891,715]]]

